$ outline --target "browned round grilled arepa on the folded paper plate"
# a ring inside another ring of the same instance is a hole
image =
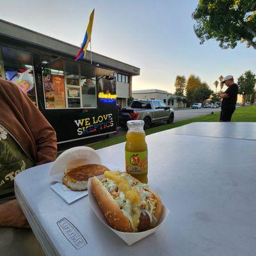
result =
[[[75,191],[87,189],[88,179],[93,176],[104,174],[109,169],[101,164],[86,164],[72,168],[65,173],[63,184]]]

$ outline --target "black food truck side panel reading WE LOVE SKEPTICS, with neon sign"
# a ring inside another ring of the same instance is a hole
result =
[[[102,77],[97,81],[96,108],[45,109],[42,113],[54,127],[58,142],[115,132],[116,80]]]

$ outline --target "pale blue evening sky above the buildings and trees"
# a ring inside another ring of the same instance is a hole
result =
[[[175,92],[175,77],[199,76],[214,89],[220,75],[235,79],[256,73],[256,51],[245,44],[223,50],[215,40],[204,45],[191,18],[198,0],[8,0],[0,19],[70,44],[81,45],[95,8],[92,51],[140,68],[132,90]]]

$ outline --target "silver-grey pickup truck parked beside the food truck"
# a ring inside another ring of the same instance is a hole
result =
[[[166,121],[173,122],[174,111],[161,100],[133,100],[131,107],[122,108],[120,111],[120,126],[126,127],[129,120],[143,120],[144,129],[148,129],[152,123]]]

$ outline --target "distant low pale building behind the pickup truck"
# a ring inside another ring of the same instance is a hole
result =
[[[165,104],[171,108],[186,108],[186,104],[182,101],[177,102],[177,96],[163,90],[150,89],[150,90],[136,90],[132,91],[132,97],[134,99],[152,99],[163,100]]]

